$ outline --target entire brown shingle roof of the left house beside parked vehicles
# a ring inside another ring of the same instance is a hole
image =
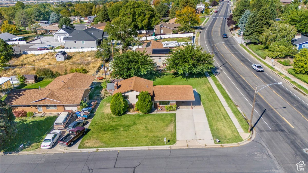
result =
[[[43,89],[20,89],[6,97],[9,105],[79,104],[95,77],[71,73],[55,78]]]

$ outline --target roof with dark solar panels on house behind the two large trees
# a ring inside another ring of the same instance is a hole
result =
[[[142,48],[137,48],[136,51],[146,51],[146,54],[149,54],[150,56],[167,56],[170,54],[169,52],[172,50],[172,48],[164,48],[163,44],[161,42],[156,42],[154,40],[150,42],[146,42],[142,45]]]

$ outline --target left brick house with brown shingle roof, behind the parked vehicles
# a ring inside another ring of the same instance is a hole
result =
[[[94,79],[95,76],[71,73],[55,78],[45,88],[12,90],[5,101],[14,111],[75,111],[82,100],[89,101],[90,86]]]

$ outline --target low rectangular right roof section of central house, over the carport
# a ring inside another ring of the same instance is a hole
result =
[[[154,101],[194,101],[193,87],[190,85],[153,86]]]

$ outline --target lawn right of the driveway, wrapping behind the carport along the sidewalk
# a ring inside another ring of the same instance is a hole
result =
[[[205,75],[201,74],[196,78],[185,79],[166,74],[164,77],[156,79],[154,85],[193,86],[200,94],[214,141],[219,139],[221,143],[238,143],[243,140]]]

